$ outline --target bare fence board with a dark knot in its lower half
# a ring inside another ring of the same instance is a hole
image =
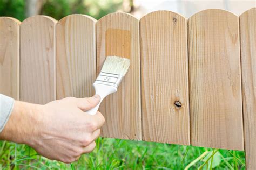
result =
[[[171,11],[140,19],[143,140],[190,145],[186,23]]]

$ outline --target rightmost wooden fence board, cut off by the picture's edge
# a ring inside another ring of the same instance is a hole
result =
[[[256,8],[240,16],[246,169],[256,167]]]

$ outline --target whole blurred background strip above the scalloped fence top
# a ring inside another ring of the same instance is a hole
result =
[[[254,6],[255,0],[0,0],[0,16],[10,16],[22,21],[33,15],[48,15],[59,20],[67,15],[80,13],[99,19],[107,13],[118,11],[132,13],[141,18],[152,11],[170,10],[189,18],[208,8],[225,9],[241,15]]]

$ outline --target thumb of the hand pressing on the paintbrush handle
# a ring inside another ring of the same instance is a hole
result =
[[[100,96],[94,95],[92,97],[78,98],[77,107],[83,111],[90,110],[100,102]]]

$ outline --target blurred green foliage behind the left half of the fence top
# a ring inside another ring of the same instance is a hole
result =
[[[70,14],[79,13],[99,19],[107,13],[116,12],[122,2],[122,0],[46,0],[39,15],[47,15],[59,20]],[[25,0],[0,0],[0,16],[14,17],[22,21],[26,18],[25,5]]]

